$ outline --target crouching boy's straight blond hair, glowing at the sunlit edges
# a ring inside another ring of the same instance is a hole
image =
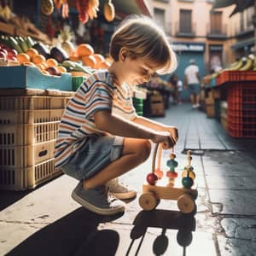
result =
[[[132,59],[141,58],[148,66],[159,67],[157,73],[172,73],[177,67],[176,54],[165,32],[146,16],[124,20],[113,33],[109,53],[114,61],[119,61],[123,47]]]

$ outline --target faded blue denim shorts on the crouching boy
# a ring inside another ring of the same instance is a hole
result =
[[[122,155],[123,141],[118,136],[89,137],[61,170],[78,180],[92,177]]]

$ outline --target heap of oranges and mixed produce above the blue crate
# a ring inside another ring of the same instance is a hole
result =
[[[37,67],[45,75],[71,73],[88,76],[98,68],[108,68],[110,63],[94,52],[90,44],[77,47],[68,41],[68,31],[61,34],[60,46],[49,46],[30,37],[3,36],[0,38],[1,66],[15,65]],[[63,49],[61,46],[63,45]],[[67,49],[67,50],[66,50]],[[12,61],[12,62],[9,62]]]

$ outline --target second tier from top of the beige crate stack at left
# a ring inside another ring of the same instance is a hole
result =
[[[64,109],[0,110],[0,125],[59,121],[63,112]]]

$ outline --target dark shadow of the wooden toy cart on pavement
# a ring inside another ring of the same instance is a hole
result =
[[[193,214],[183,214],[177,211],[154,210],[151,212],[141,211],[135,218],[134,227],[131,230],[131,244],[125,256],[131,252],[131,247],[137,239],[141,239],[137,247],[136,255],[139,253],[140,247],[143,244],[144,236],[147,229],[161,228],[160,236],[157,236],[152,245],[154,255],[162,255],[168,247],[168,237],[166,230],[177,231],[177,243],[183,247],[183,256],[186,255],[186,247],[191,243],[193,236],[192,231],[195,231],[195,217]]]

